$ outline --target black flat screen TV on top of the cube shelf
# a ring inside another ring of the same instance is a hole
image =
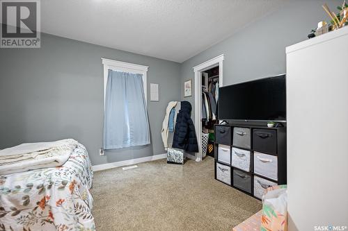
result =
[[[219,119],[286,121],[285,74],[219,88]]]

